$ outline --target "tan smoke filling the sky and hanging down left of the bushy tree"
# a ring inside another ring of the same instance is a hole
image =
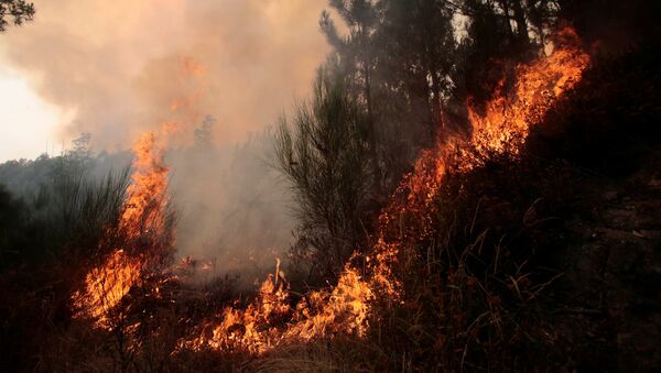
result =
[[[34,22],[4,34],[0,55],[71,113],[63,139],[89,132],[98,150],[118,151],[176,122],[169,162],[182,253],[231,252],[223,270],[285,244],[286,195],[264,165],[263,128],[310,91],[328,51],[325,0],[34,2]],[[205,118],[215,146],[193,146]]]

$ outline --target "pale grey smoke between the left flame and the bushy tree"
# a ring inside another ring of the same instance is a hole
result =
[[[180,255],[207,264],[198,274],[240,273],[251,282],[286,257],[294,224],[288,189],[267,160],[271,149],[264,130],[231,147],[198,143],[167,154],[181,213],[176,245]]]

